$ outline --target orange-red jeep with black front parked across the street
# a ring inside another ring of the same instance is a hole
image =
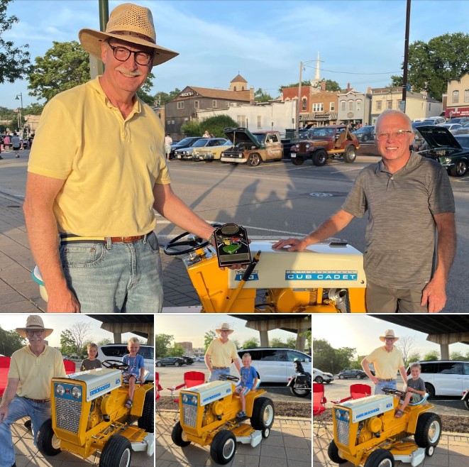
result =
[[[311,159],[314,165],[324,165],[329,158],[341,157],[346,163],[353,163],[360,148],[358,139],[346,125],[317,126],[302,132],[296,144],[290,148],[290,160],[302,165]]]

